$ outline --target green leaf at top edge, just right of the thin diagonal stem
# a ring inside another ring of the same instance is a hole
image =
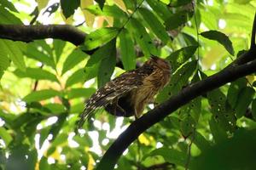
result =
[[[147,3],[162,20],[167,20],[168,17],[172,15],[165,3],[155,0],[147,0]]]

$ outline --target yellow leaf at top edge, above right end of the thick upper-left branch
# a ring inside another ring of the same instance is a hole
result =
[[[90,14],[88,10],[85,10],[85,8],[89,7],[90,5],[93,5],[93,0],[81,1],[80,8],[84,14],[86,25],[92,27],[96,16],[94,14]]]

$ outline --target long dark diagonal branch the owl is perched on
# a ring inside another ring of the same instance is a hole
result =
[[[255,46],[245,53],[243,57],[248,59],[250,58],[248,55],[256,56]],[[233,63],[223,71],[219,71],[211,77],[183,88],[177,95],[172,96],[171,99],[168,99],[163,104],[155,107],[154,110],[148,111],[147,114],[132,122],[125,132],[121,133],[119,138],[113,142],[105,155],[102,156],[102,160],[99,162],[96,170],[113,169],[122,153],[141,133],[172,114],[173,111],[176,111],[182,105],[189,103],[191,99],[195,99],[202,94],[223,86],[227,82],[233,82],[239,77],[247,76],[256,71],[256,59],[245,64],[232,65]]]

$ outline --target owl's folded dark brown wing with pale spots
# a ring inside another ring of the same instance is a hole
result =
[[[143,74],[142,71],[127,71],[98,89],[96,94],[93,94],[86,102],[84,111],[80,115],[79,127],[83,126],[86,118],[97,108],[106,106],[110,104],[113,99],[119,98],[130,92],[132,89],[142,86],[143,77],[147,75],[148,73]]]

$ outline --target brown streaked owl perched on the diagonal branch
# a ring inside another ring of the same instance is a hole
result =
[[[114,116],[142,115],[143,109],[154,95],[163,88],[171,77],[171,65],[166,59],[152,56],[142,67],[126,71],[106,83],[86,102],[80,115],[79,127],[96,109],[105,110]]]

